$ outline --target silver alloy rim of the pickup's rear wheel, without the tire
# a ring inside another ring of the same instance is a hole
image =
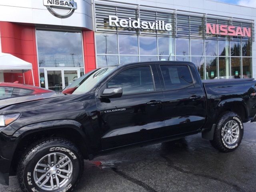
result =
[[[223,130],[223,139],[228,145],[236,143],[239,138],[239,125],[236,121],[228,121]]]

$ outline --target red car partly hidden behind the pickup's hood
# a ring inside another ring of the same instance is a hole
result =
[[[19,83],[0,83],[0,99],[48,92],[54,91]]]

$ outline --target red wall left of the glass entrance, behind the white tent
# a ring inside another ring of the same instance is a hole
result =
[[[35,85],[39,86],[35,28],[12,22],[0,22],[0,36],[2,52],[10,53],[32,63]],[[14,82],[17,80],[19,83],[23,83],[22,74],[4,74],[5,82]],[[25,73],[25,83],[33,85],[31,71]]]

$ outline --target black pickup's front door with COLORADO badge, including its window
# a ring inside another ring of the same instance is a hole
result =
[[[153,73],[154,72],[154,73]],[[105,88],[122,88],[119,98],[100,98]],[[96,95],[102,149],[152,140],[164,127],[164,96],[155,65],[128,66],[114,74]]]

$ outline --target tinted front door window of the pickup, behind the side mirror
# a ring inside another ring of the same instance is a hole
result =
[[[150,66],[130,68],[120,72],[107,83],[107,88],[112,87],[121,87],[123,94],[154,91]]]

